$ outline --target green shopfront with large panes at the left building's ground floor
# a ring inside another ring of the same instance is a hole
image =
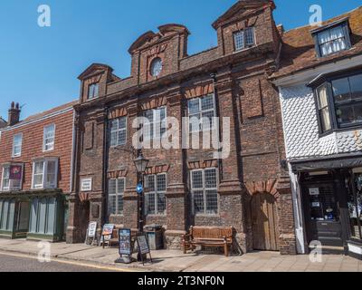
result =
[[[58,189],[1,193],[0,237],[61,241],[66,204]]]

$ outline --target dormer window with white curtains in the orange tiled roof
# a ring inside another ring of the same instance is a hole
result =
[[[312,34],[319,57],[342,52],[351,47],[347,20],[338,24],[329,24],[328,27],[315,30]]]

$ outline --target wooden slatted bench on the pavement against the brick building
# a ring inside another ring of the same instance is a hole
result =
[[[196,246],[224,247],[225,256],[229,256],[229,247],[233,246],[233,227],[190,227],[183,236],[184,254],[195,250]]]

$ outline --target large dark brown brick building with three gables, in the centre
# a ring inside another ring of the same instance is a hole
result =
[[[90,221],[138,227],[130,150],[138,116],[151,121],[148,138],[155,141],[168,117],[196,115],[220,117],[221,127],[229,118],[230,154],[215,159],[213,150],[142,150],[149,160],[146,224],[164,227],[169,248],[180,247],[192,225],[230,226],[244,252],[296,253],[281,106],[268,81],[281,51],[274,9],[269,0],[237,1],[213,24],[217,46],[194,55],[187,54],[187,28],[165,24],[130,46],[128,78],[100,63],[81,73],[68,242],[84,241]]]

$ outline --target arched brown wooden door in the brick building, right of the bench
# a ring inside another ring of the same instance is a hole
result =
[[[279,227],[276,199],[269,193],[252,197],[253,248],[279,251]]]

